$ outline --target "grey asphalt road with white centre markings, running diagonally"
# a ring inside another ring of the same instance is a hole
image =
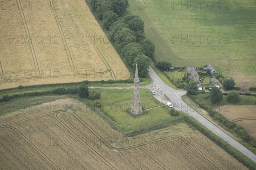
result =
[[[226,142],[228,142],[230,145],[235,147],[237,150],[239,150],[241,153],[243,153],[245,156],[256,162],[256,155],[253,154],[250,150],[248,150],[246,147],[244,147],[242,144],[237,142],[235,139],[230,137],[227,133],[213,125],[209,120],[204,118],[204,116],[201,116],[197,111],[195,111],[193,108],[189,107],[182,99],[181,96],[186,94],[186,91],[180,91],[175,90],[168,85],[166,85],[165,82],[157,75],[157,73],[154,71],[153,68],[149,68],[149,76],[153,81],[156,83],[158,88],[160,88],[161,91],[163,91],[166,96],[168,96],[174,104],[174,107],[180,111],[183,111],[190,116],[194,117],[198,120],[201,124],[203,124],[205,127],[207,127],[209,130],[211,130],[213,133],[224,139]]]

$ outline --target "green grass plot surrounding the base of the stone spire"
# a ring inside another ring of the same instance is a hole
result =
[[[163,104],[154,98],[149,90],[140,89],[140,98],[143,109],[153,109],[137,116],[128,113],[132,104],[133,89],[102,89],[101,91],[102,110],[111,117],[114,125],[125,136],[134,136],[138,133],[145,133],[149,130],[183,122],[184,113],[181,113],[180,116],[171,116],[169,114],[171,108],[166,105],[154,108]]]

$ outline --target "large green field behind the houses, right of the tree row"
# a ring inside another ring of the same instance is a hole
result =
[[[237,86],[256,87],[255,0],[129,0],[128,13],[144,20],[157,60],[175,67],[211,64]]]

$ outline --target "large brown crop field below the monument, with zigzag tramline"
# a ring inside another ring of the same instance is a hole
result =
[[[6,115],[0,137],[3,170],[247,169],[186,124],[123,137],[75,99]]]

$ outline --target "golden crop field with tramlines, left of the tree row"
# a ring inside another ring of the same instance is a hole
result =
[[[0,3],[0,89],[129,78],[84,0]]]

